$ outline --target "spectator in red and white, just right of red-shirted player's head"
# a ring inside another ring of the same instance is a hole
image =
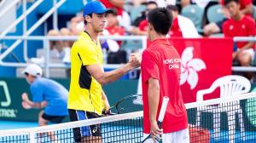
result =
[[[168,5],[167,9],[173,16],[172,28],[168,33],[170,37],[199,37],[193,22],[178,14],[177,6]]]

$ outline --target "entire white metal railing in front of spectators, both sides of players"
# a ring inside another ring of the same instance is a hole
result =
[[[32,41],[43,41],[44,42],[44,53],[45,53],[45,62],[44,65],[41,65],[45,68],[45,76],[49,77],[49,68],[50,67],[58,67],[58,68],[69,68],[70,66],[65,64],[54,64],[49,63],[49,41],[75,41],[78,37],[44,37],[44,36],[22,36],[22,37],[15,37],[15,36],[0,36],[0,40],[32,40]],[[147,37],[145,36],[112,36],[112,37],[100,37],[101,39],[113,39],[113,40],[141,40],[143,42],[142,49],[146,49],[147,47]],[[256,37],[234,37],[235,42],[241,42],[241,41],[250,41],[250,42],[256,42]],[[0,66],[27,66],[27,63],[15,63],[15,62],[4,62],[3,59],[16,47],[10,47],[6,51],[3,52],[3,54],[0,55]],[[120,65],[105,65],[104,67],[107,68],[118,68]],[[256,67],[253,66],[233,66],[232,71],[236,72],[256,72]]]

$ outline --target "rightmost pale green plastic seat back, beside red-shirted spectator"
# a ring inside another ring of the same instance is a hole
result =
[[[216,23],[218,21],[224,20],[224,14],[222,13],[221,5],[212,5],[208,10],[207,10],[207,19],[209,22]]]

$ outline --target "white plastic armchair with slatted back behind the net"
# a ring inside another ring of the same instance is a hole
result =
[[[210,94],[215,89],[220,88],[220,99],[221,98],[232,98],[239,94],[244,94],[250,91],[251,83],[247,80],[246,77],[241,76],[225,76],[220,77],[212,83],[210,89],[203,89],[197,92],[196,100],[202,101],[204,94]],[[212,112],[213,113],[213,134],[214,138],[218,139],[218,133],[220,133],[220,113],[226,112],[228,116],[228,125],[229,125],[229,140],[230,142],[234,141],[234,134],[236,132],[236,113],[238,113],[239,123],[241,127],[241,136],[245,140],[245,129],[244,122],[242,117],[242,110],[240,102],[233,101],[232,103],[223,103],[218,104],[217,106],[207,106],[207,111],[204,111],[201,108],[197,109],[197,118],[196,125],[200,125],[201,122],[201,112]]]

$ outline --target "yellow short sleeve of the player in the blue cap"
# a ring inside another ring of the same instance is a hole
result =
[[[96,49],[84,46],[78,49],[78,56],[83,62],[83,66],[100,64],[99,53]]]

